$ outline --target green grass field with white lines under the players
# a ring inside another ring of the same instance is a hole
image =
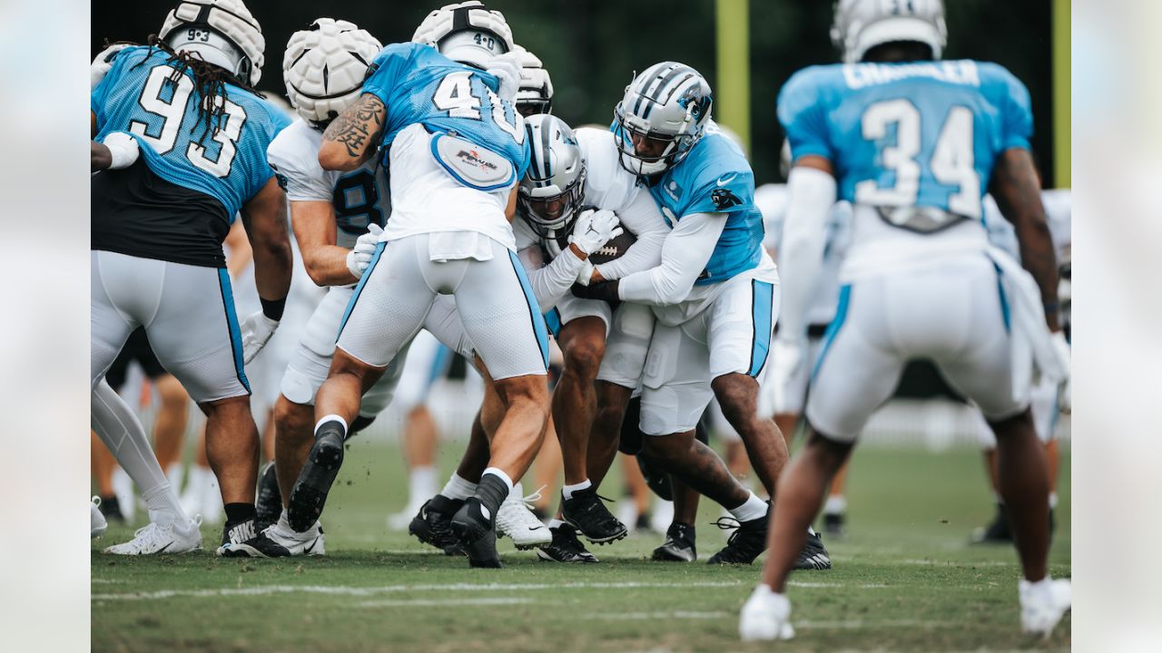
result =
[[[458,445],[444,447],[444,471]],[[206,552],[127,559],[92,554],[94,651],[998,651],[1067,650],[1067,619],[1048,641],[1020,636],[1016,554],[968,544],[991,518],[978,452],[858,450],[849,534],[826,540],[834,569],[798,572],[796,639],[738,640],[738,610],[759,566],[648,560],[657,533],[594,547],[601,565],[539,562],[500,540],[504,569],[469,569],[385,516],[403,504],[397,450],[352,444],[328,502],[325,558],[224,560]],[[617,479],[604,494],[618,494]],[[1069,455],[1062,452],[1054,576],[1070,575]],[[725,543],[705,502],[698,553]],[[761,560],[761,559],[760,559]]]

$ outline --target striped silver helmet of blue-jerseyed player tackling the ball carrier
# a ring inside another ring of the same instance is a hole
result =
[[[677,165],[702,138],[712,105],[710,85],[690,66],[662,62],[646,69],[614,108],[622,167],[646,177]],[[639,155],[634,135],[664,146],[657,155]]]

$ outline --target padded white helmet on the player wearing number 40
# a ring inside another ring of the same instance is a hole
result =
[[[486,70],[493,57],[512,50],[512,30],[504,14],[469,0],[428,14],[411,41],[431,45],[453,62]]]

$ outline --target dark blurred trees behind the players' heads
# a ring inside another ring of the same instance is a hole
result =
[[[408,41],[424,15],[450,0],[347,1],[246,0],[266,36],[259,88],[284,95],[282,51],[290,34],[318,16],[350,20],[383,44]],[[175,2],[96,0],[92,50],[109,41],[145,42]],[[715,88],[715,0],[486,0],[504,13],[512,35],[545,63],[553,79],[553,113],[572,125],[609,124],[634,71],[661,60],[697,69]],[[997,62],[1030,89],[1037,134],[1033,149],[1046,180],[1053,179],[1050,2],[946,0],[945,58]],[[751,0],[751,159],[758,184],[779,174],[782,134],[775,98],[795,71],[832,63],[832,3],[824,0]],[[720,112],[716,105],[716,113]],[[1068,127],[1067,127],[1068,129]]]

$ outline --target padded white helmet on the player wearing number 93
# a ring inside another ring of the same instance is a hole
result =
[[[175,51],[194,52],[250,86],[263,77],[266,40],[242,0],[182,0],[165,16],[158,37]]]

